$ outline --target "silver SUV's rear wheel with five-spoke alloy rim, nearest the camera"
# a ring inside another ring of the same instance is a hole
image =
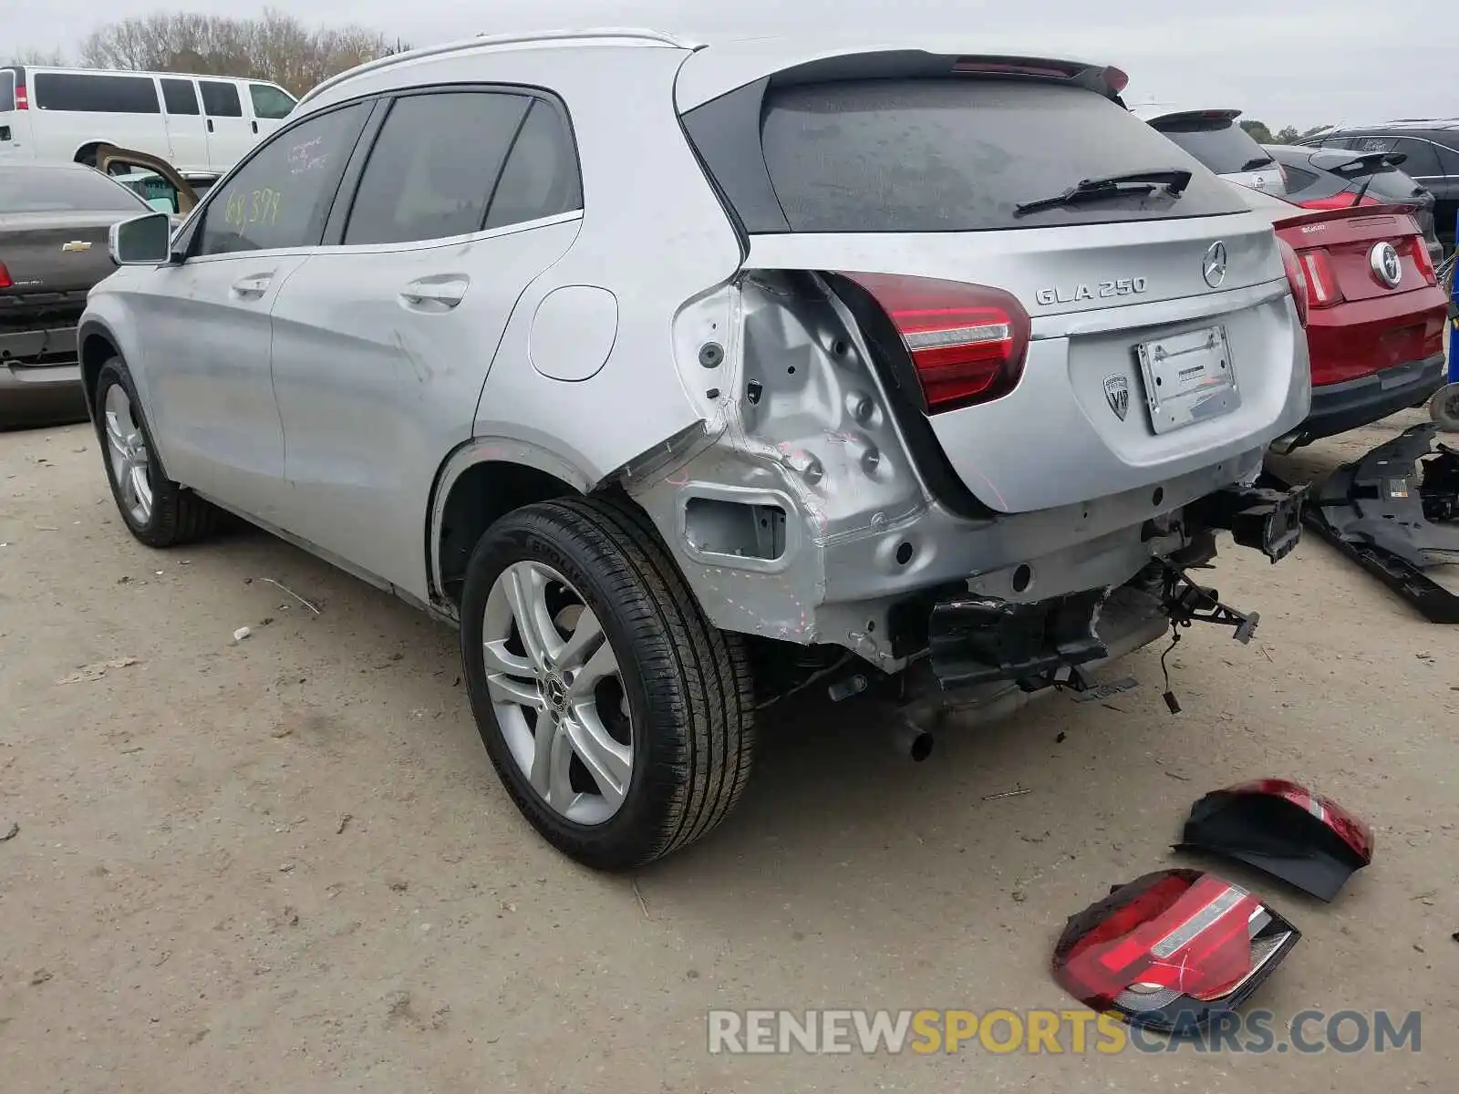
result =
[[[481,740],[554,847],[632,869],[709,833],[754,751],[748,661],[648,522],[598,499],[527,506],[477,543],[461,655]]]

